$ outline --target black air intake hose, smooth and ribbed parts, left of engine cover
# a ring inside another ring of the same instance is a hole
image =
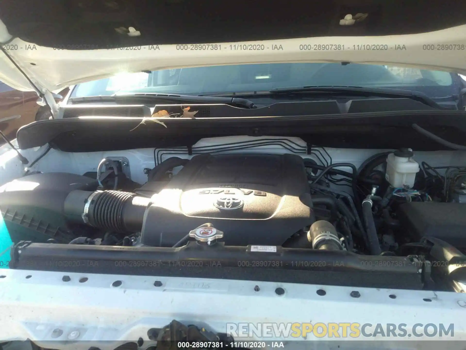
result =
[[[150,198],[122,191],[71,191],[65,214],[74,222],[116,232],[141,231]]]

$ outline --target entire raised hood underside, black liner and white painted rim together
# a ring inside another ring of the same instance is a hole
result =
[[[433,0],[4,0],[0,80],[54,92],[124,72],[281,62],[466,74],[465,13],[465,1]]]

